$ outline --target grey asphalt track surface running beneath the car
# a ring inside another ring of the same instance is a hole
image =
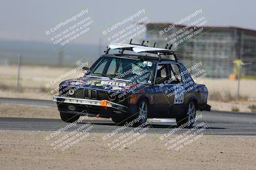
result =
[[[33,99],[0,98],[0,103],[56,107],[56,104],[52,101]],[[202,131],[204,134],[256,136],[256,113],[199,111],[197,115],[202,115],[202,118],[196,121],[194,127],[204,122],[206,125],[206,129]],[[90,132],[111,133],[121,127],[108,120],[83,120],[83,122],[77,124],[75,127],[72,126],[68,128],[67,131],[74,131],[87,122],[90,122],[93,125]],[[166,134],[177,127],[175,122],[153,122],[148,124],[150,125],[150,128],[145,132],[151,134]],[[68,123],[63,122],[60,119],[0,118],[0,129],[2,130],[57,131],[58,129],[61,129],[61,127],[67,125]],[[134,127],[127,127],[119,132],[130,132],[132,129],[134,129]],[[186,131],[188,131],[188,129],[181,129],[176,131],[175,134],[182,134]]]

